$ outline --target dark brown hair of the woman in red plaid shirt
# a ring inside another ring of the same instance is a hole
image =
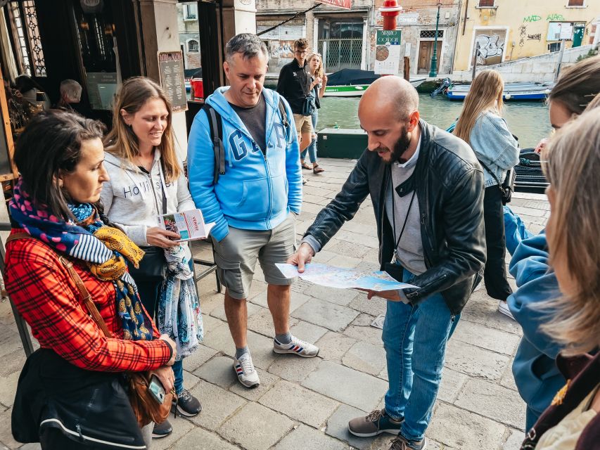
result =
[[[68,193],[58,176],[72,173],[81,160],[82,142],[102,139],[106,127],[76,113],[48,110],[36,115],[17,141],[15,164],[25,191],[37,205],[47,205],[56,217],[73,219]]]

